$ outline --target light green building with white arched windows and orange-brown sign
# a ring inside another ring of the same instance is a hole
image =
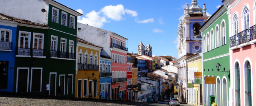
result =
[[[229,106],[230,51],[229,17],[223,5],[201,26],[203,48],[203,101],[211,106],[214,95],[217,106]],[[219,70],[216,64],[220,64]],[[231,98],[232,99],[232,98]]]

